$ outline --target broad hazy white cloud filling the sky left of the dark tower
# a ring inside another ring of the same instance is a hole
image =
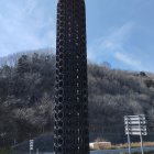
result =
[[[19,51],[55,47],[55,29],[47,3],[37,0],[0,2],[0,56]],[[46,4],[46,6],[45,6]]]

